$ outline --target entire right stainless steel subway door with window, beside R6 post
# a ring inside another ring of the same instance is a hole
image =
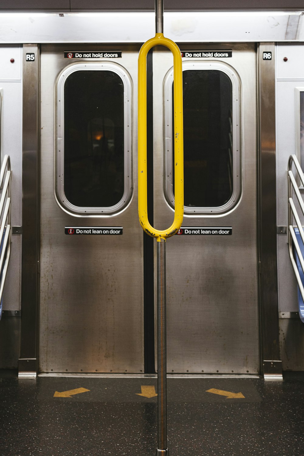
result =
[[[257,374],[255,47],[180,49],[185,216],[166,249],[167,370]],[[163,113],[154,131],[154,226],[165,229],[174,207],[173,62],[164,48],[153,58],[155,118]]]

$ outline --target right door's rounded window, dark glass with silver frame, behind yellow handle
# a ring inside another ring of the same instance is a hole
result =
[[[174,205],[173,77],[165,82],[165,194]],[[240,196],[239,84],[221,63],[184,62],[185,213],[223,213]]]

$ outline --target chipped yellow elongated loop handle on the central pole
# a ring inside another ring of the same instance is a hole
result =
[[[151,47],[165,46],[173,54],[174,76],[174,221],[166,230],[156,230],[148,220],[147,202],[147,54]],[[183,76],[180,49],[174,41],[156,33],[140,49],[138,59],[138,213],[144,231],[165,241],[181,227],[184,215],[184,135],[183,135]]]

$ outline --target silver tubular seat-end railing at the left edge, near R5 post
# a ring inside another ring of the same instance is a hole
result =
[[[3,157],[0,169],[0,318],[2,316],[2,295],[5,285],[6,273],[10,261],[11,222],[11,170],[10,156]]]

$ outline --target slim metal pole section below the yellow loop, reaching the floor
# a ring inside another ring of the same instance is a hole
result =
[[[157,384],[158,447],[156,456],[167,455],[167,356],[166,356],[166,243],[157,242]]]

